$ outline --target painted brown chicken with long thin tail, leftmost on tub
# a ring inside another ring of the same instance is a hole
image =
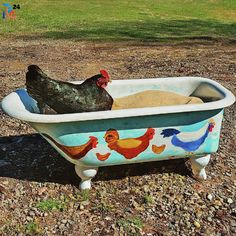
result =
[[[75,160],[79,160],[84,157],[91,149],[96,148],[98,143],[98,139],[96,137],[90,136],[89,141],[85,144],[82,144],[80,146],[65,146],[58,143],[48,134],[43,133],[42,135],[52,141],[62,152]]]

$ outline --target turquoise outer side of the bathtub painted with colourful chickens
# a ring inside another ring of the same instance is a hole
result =
[[[216,152],[222,115],[213,110],[31,125],[72,163],[107,166]]]

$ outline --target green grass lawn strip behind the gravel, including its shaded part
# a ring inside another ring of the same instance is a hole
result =
[[[16,10],[17,19],[0,20],[2,36],[160,41],[236,35],[233,0],[19,0],[17,3],[21,5]]]

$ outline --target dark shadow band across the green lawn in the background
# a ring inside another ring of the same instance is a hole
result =
[[[60,31],[48,31],[42,38],[76,40],[168,41],[235,39],[236,23],[214,20],[112,21],[78,25]]]

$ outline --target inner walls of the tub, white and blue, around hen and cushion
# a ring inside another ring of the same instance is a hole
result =
[[[80,84],[81,81],[73,83]],[[222,91],[209,82],[199,79],[187,80],[187,78],[112,81],[107,88],[107,91],[113,98],[124,97],[145,90],[161,90],[184,96],[199,97],[203,102],[218,101],[225,96]],[[13,107],[15,106],[16,109],[25,110],[30,113],[40,113],[37,102],[28,95],[25,89],[18,89],[15,93],[14,102],[11,104]]]

